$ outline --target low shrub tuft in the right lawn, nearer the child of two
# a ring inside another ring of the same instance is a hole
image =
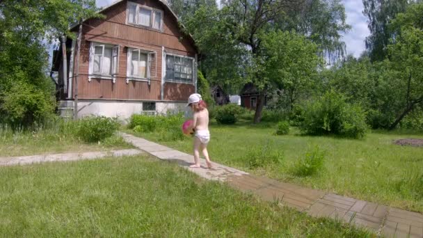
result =
[[[280,164],[283,161],[284,154],[280,150],[272,150],[271,144],[249,148],[246,154],[246,164],[248,168],[262,168],[269,164]]]

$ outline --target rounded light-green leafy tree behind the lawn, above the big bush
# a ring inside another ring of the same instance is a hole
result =
[[[261,66],[264,79],[284,91],[292,109],[299,97],[312,90],[313,79],[321,68],[317,44],[289,31],[271,32],[262,39],[263,56],[257,65]]]

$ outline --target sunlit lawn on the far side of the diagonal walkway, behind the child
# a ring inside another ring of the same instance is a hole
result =
[[[423,148],[393,145],[399,138],[423,138],[406,132],[370,132],[362,140],[334,136],[302,136],[295,128],[285,136],[274,136],[276,125],[247,123],[233,126],[212,124],[209,154],[212,161],[257,175],[343,196],[423,212]],[[157,141],[155,134],[136,134]],[[191,153],[191,141],[159,142]],[[270,147],[284,159],[280,163],[252,168],[246,159],[250,148]],[[293,171],[305,153],[319,147],[325,152],[324,166],[311,176]]]

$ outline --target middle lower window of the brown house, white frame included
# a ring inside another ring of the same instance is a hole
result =
[[[155,52],[128,48],[127,83],[129,80],[147,80],[156,76]]]

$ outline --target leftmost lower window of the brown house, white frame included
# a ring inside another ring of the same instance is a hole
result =
[[[90,61],[88,69],[88,80],[92,78],[113,79],[119,69],[119,45],[107,45],[92,42],[90,47]]]

